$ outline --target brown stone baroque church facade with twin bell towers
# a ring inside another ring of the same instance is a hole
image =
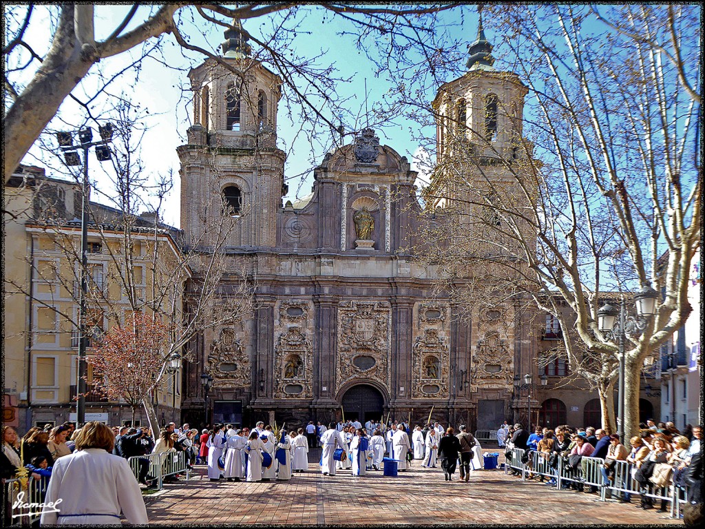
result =
[[[197,248],[219,216],[238,218],[223,245],[233,270],[254,281],[255,308],[192,343],[182,420],[298,425],[343,412],[421,422],[433,410],[433,420],[476,430],[518,418],[527,399],[515,395],[515,377],[536,371],[529,322],[510,305],[467,321],[449,298],[434,297],[434,269],[411,250],[425,220],[406,157],[362,130],[325,154],[310,195],[282,205],[281,79],[252,59],[240,28],[226,32],[223,61],[244,75],[214,61],[189,73],[195,124],[178,148],[181,222],[185,244]],[[527,90],[495,71],[490,51],[481,29],[467,73],[436,98],[441,120],[453,113],[478,128],[494,101],[521,121]],[[495,150],[509,152],[504,117],[491,118]],[[239,277],[226,274],[223,292]]]

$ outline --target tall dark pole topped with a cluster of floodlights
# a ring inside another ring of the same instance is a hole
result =
[[[93,130],[90,127],[82,128],[78,131],[80,145],[73,145],[73,136],[70,132],[56,133],[56,140],[59,142],[59,150],[63,151],[64,160],[67,166],[80,165],[78,148],[83,150],[83,180],[81,183],[81,269],[80,283],[81,290],[78,299],[78,380],[76,382],[76,423],[80,427],[85,422],[85,392],[86,392],[86,348],[88,336],[86,332],[86,297],[88,293],[88,278],[86,275],[88,268],[88,150],[95,147],[95,155],[99,162],[106,162],[111,158],[108,143],[113,138],[113,124],[106,123],[98,127],[100,141],[94,142]]]

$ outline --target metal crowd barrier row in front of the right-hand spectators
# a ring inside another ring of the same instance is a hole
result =
[[[583,457],[580,461],[580,467],[573,470],[568,468],[568,458],[563,456],[558,457],[558,466],[553,468],[550,465],[548,454],[541,454],[537,451],[529,451],[529,459],[526,463],[522,463],[522,458],[525,456],[524,449],[515,448],[510,454],[505,455],[505,473],[515,470],[515,472],[521,473],[522,481],[527,479],[527,475],[543,475],[555,478],[555,486],[558,490],[563,488],[565,482],[571,482],[579,487],[584,485],[598,487],[601,501],[606,501],[608,492],[612,495],[616,493],[629,494],[630,496],[638,494],[651,499],[670,501],[670,516],[672,518],[680,516],[681,504],[685,502],[687,497],[687,489],[675,487],[673,483],[668,487],[656,487],[655,485],[643,487],[634,479],[635,467],[627,461],[616,461],[612,474],[613,481],[605,483],[601,471],[604,463],[603,458]]]

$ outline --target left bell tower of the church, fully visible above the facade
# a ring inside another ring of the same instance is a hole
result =
[[[178,147],[185,244],[213,245],[226,224],[226,247],[276,245],[276,213],[286,194],[286,156],[276,147],[281,78],[252,57],[240,20],[225,32],[221,61],[188,76],[193,125]]]

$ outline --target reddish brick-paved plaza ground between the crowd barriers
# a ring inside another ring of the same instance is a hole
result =
[[[446,482],[440,468],[421,468],[419,461],[398,478],[376,471],[353,478],[350,470],[329,477],[317,463],[290,482],[212,483],[200,479],[204,473],[197,467],[190,482],[145,497],[150,523],[682,525],[668,513],[603,503],[594,494],[559,492],[538,481],[522,483],[503,470],[474,471],[469,483],[457,481],[457,472],[456,480]]]

